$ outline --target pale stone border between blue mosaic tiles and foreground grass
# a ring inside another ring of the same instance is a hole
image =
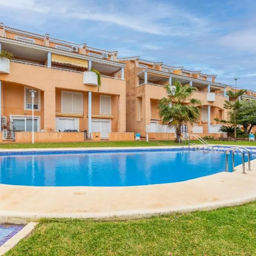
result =
[[[0,246],[0,255],[3,255],[7,251],[9,251],[12,247],[15,247],[15,245],[23,238],[27,237],[32,230],[35,228],[35,226],[38,224],[38,222],[29,222],[26,224],[25,227],[23,227],[22,230],[20,230],[15,236],[7,240],[2,246]]]

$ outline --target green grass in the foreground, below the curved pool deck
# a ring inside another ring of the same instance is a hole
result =
[[[130,221],[49,221],[6,256],[256,255],[256,202]]]

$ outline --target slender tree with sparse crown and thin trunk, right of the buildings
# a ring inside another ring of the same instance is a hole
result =
[[[241,90],[238,90],[238,91],[235,91],[233,92],[232,90],[229,90],[226,94],[227,96],[229,96],[230,98],[233,98],[234,101],[227,101],[225,100],[225,103],[224,103],[224,108],[226,109],[229,109],[229,110],[232,110],[233,113],[232,113],[232,119],[233,119],[233,124],[234,124],[234,127],[236,128],[236,123],[237,123],[237,120],[236,120],[236,111],[241,108],[241,103],[239,102],[239,97],[242,96],[247,90],[244,90],[244,89],[241,89]],[[234,140],[236,141],[236,129],[234,129]]]

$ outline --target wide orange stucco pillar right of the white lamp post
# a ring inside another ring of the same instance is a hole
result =
[[[44,131],[55,132],[55,87],[44,91]]]

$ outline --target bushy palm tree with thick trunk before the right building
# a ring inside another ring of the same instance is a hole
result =
[[[197,90],[189,85],[182,85],[179,81],[174,82],[174,86],[166,85],[168,98],[159,100],[157,107],[159,115],[162,118],[163,125],[175,127],[178,142],[181,137],[181,126],[183,122],[194,123],[200,116],[200,110],[197,105],[201,104],[198,99],[193,99],[192,93]]]

